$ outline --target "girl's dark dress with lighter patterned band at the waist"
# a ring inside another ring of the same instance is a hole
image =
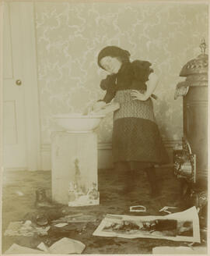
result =
[[[114,112],[114,163],[126,164],[130,169],[145,169],[168,162],[152,99],[140,101],[131,98],[131,90],[146,90],[145,82],[153,72],[149,66],[151,63],[146,61],[124,62],[117,74],[107,76],[100,84],[107,91],[103,101],[108,103],[114,98],[121,106]]]

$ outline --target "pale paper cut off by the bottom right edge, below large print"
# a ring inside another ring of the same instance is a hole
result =
[[[160,246],[152,248],[152,254],[207,254],[207,247]]]

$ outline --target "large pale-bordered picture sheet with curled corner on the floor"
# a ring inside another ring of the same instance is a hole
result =
[[[195,207],[165,216],[107,215],[93,236],[145,237],[201,243]]]

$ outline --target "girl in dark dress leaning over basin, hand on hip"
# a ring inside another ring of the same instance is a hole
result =
[[[159,190],[154,165],[168,162],[151,99],[156,98],[152,92],[158,80],[150,62],[130,62],[129,57],[128,51],[116,46],[100,51],[98,65],[109,73],[100,87],[107,93],[93,108],[99,109],[113,99],[120,104],[114,112],[112,149],[115,167],[126,170],[124,192],[132,190],[135,172],[143,169],[152,195],[156,195]]]

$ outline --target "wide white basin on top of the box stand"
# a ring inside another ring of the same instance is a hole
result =
[[[54,116],[54,119],[67,132],[89,133],[99,126],[103,117],[104,115],[60,114]]]

